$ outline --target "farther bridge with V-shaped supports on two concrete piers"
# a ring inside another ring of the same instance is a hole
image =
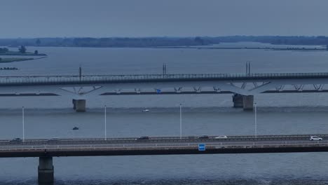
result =
[[[233,94],[233,107],[252,110],[259,93],[327,93],[328,73],[136,74],[0,76],[0,97],[68,96],[86,111],[95,95]]]

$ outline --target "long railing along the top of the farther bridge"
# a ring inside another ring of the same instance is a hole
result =
[[[125,83],[144,81],[224,81],[291,78],[328,78],[328,73],[272,73],[272,74],[134,74],[81,76],[0,76],[0,85]]]

